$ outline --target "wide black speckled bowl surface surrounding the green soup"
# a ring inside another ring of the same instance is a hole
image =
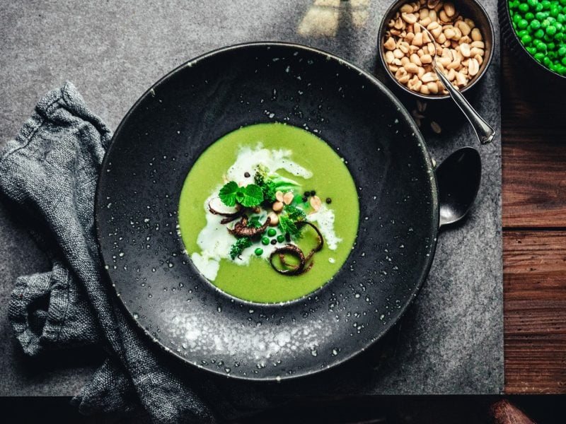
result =
[[[224,134],[260,122],[324,139],[349,167],[360,204],[342,269],[311,295],[277,305],[221,293],[177,232],[195,160]],[[286,43],[219,49],[158,81],[115,132],[96,195],[100,252],[132,319],[181,360],[242,379],[309,375],[381,338],[427,276],[438,223],[432,163],[403,105],[362,69]]]

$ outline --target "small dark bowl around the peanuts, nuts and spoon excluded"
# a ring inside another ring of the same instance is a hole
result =
[[[423,100],[438,100],[438,99],[447,99],[450,98],[450,95],[437,95],[437,94],[422,94],[417,93],[416,91],[410,90],[408,87],[401,84],[393,73],[389,71],[387,63],[385,61],[385,49],[383,47],[383,38],[385,37],[385,33],[388,30],[387,24],[395,16],[395,13],[399,10],[403,4],[410,3],[408,0],[396,0],[389,6],[386,13],[383,15],[383,19],[381,20],[381,24],[379,25],[379,33],[377,35],[377,45],[378,45],[378,54],[379,54],[379,61],[385,70],[385,73],[391,78],[391,81],[395,83],[396,86],[404,90],[406,93],[410,93],[411,95],[416,96],[417,98],[421,98]],[[492,57],[493,57],[493,50],[495,48],[495,40],[494,40],[494,29],[493,24],[487,15],[487,11],[485,8],[477,1],[477,0],[455,0],[452,1],[454,6],[456,6],[456,11],[459,11],[461,15],[466,18],[470,18],[474,21],[475,26],[480,29],[483,35],[483,42],[485,43],[485,56],[483,57],[483,62],[480,65],[480,71],[478,74],[473,78],[473,80],[464,87],[461,92],[465,93],[466,91],[470,90],[475,84],[480,81],[480,79],[485,74],[486,69],[490,66]]]

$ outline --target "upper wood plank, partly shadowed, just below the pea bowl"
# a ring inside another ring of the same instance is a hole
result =
[[[503,226],[566,227],[564,89],[533,81],[502,50]]]

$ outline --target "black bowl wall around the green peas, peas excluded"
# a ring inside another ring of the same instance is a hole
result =
[[[525,68],[529,69],[531,73],[533,73],[533,76],[538,78],[538,81],[547,81],[547,83],[550,84],[558,83],[560,86],[566,87],[566,76],[550,71],[550,69],[536,61],[536,59],[526,51],[511,23],[511,13],[507,0],[499,0],[497,12],[499,15],[499,25],[501,27],[501,37],[505,45],[509,47],[509,52],[519,59],[521,64],[524,64]]]

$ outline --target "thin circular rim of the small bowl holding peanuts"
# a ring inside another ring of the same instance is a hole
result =
[[[421,98],[422,100],[449,99],[449,98],[451,98],[450,94],[429,95],[429,94],[417,93],[416,91],[410,90],[407,86],[404,86],[399,81],[397,81],[395,79],[395,76],[393,75],[393,73],[391,73],[391,71],[388,69],[387,63],[385,61],[385,53],[383,52],[383,37],[384,37],[385,31],[386,31],[386,24],[387,24],[388,16],[391,16],[396,11],[396,9],[400,8],[400,6],[404,3],[406,3],[407,1],[408,0],[395,0],[391,4],[391,6],[389,6],[387,8],[385,13],[383,13],[383,18],[381,18],[381,23],[379,24],[379,31],[377,33],[377,47],[378,47],[379,61],[381,62],[383,69],[385,70],[385,72],[387,73],[387,75],[391,79],[391,81],[393,81],[396,86],[405,90],[406,93],[410,93],[411,95],[414,95],[417,98]],[[460,90],[460,93],[466,93],[466,91],[468,91],[470,88],[475,86],[475,84],[478,83],[478,81],[480,81],[480,79],[485,75],[487,68],[489,68],[489,66],[492,62],[493,54],[495,52],[495,27],[493,26],[493,23],[490,19],[490,16],[487,14],[485,7],[483,7],[483,5],[480,4],[479,1],[477,1],[477,0],[454,0],[454,1],[455,1],[455,3],[458,3],[458,2],[466,3],[466,5],[468,7],[474,7],[475,6],[476,8],[478,8],[480,13],[483,13],[487,22],[489,23],[488,28],[489,28],[489,31],[490,31],[490,34],[491,34],[491,47],[490,47],[490,50],[489,50],[490,54],[487,57],[487,61],[484,62],[485,66],[483,66],[483,71],[478,73],[478,75],[475,76],[475,78],[473,79],[473,81],[471,83],[469,83],[466,87],[464,87]]]

